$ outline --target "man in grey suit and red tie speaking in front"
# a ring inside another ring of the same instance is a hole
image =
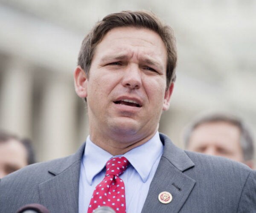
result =
[[[176,49],[172,30],[154,14],[106,16],[85,37],[78,64],[76,93],[86,98],[90,126],[86,145],[3,178],[0,212],[28,203],[53,213],[102,206],[122,213],[255,212],[253,170],[186,153],[157,132],[172,95]]]

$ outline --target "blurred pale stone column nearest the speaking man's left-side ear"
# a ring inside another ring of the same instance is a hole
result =
[[[49,73],[41,101],[40,161],[76,151],[76,93],[72,75]]]

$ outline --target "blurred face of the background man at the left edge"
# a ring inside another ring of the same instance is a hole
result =
[[[0,143],[0,178],[27,165],[26,148],[14,139]]]

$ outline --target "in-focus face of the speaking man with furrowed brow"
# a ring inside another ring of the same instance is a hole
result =
[[[166,90],[166,63],[166,47],[149,29],[119,27],[103,37],[84,82],[86,92],[76,88],[87,98],[92,139],[114,133],[137,140],[157,130],[173,86]]]

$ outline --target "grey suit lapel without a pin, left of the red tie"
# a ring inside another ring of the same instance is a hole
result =
[[[41,204],[50,212],[78,212],[79,176],[84,145],[48,170],[52,178],[39,184]]]

